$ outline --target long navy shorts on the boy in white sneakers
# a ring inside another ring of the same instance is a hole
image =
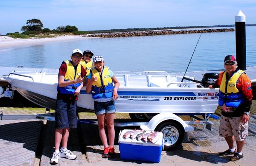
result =
[[[57,99],[55,111],[55,128],[76,128],[76,100]]]

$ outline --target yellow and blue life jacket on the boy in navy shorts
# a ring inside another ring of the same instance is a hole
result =
[[[72,81],[74,79],[77,79],[79,76],[81,76],[81,64],[79,63],[76,67],[72,65],[71,61],[66,60],[63,61],[67,65],[67,71],[64,76],[64,81]],[[70,84],[66,87],[57,87],[57,90],[60,91],[61,94],[74,94],[76,91],[76,88],[79,87],[81,83],[76,83],[76,84]]]

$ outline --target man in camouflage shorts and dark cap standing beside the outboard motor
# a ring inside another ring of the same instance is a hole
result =
[[[248,135],[248,120],[253,92],[249,77],[237,67],[236,58],[227,55],[224,59],[225,71],[219,74],[215,84],[209,88],[219,87],[219,106],[221,109],[220,136],[224,137],[229,149],[219,156],[233,155],[230,161],[243,158],[242,149]],[[235,140],[237,150],[235,149]]]

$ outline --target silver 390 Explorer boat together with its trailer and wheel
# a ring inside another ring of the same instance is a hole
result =
[[[213,76],[217,73],[208,74]],[[125,72],[115,76],[120,83],[119,98],[115,101],[116,112],[129,113],[134,120],[115,123],[115,126],[140,126],[143,130],[160,131],[163,133],[164,150],[176,148],[184,137],[189,140],[188,132],[194,130],[192,124],[203,124],[211,129],[209,117],[218,106],[218,88],[208,88],[208,81],[214,79],[206,79],[207,74],[202,79],[207,80],[204,82],[188,76],[171,76],[163,71],[143,71],[140,74]],[[28,100],[55,109],[58,73],[12,72],[4,79],[11,84],[11,89],[17,90]],[[78,111],[93,112],[93,104],[92,95],[86,93],[85,87],[82,88],[77,103]],[[193,120],[183,121],[178,115],[190,115]],[[195,115],[203,115],[203,118]],[[52,114],[35,115],[35,118],[54,121]],[[148,118],[146,122],[135,122],[145,118]],[[98,124],[97,121],[86,119],[79,119],[78,122]]]

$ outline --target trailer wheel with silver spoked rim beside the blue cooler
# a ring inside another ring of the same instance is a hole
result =
[[[155,131],[163,133],[163,150],[173,150],[183,141],[184,128],[178,122],[166,122],[156,127]]]

